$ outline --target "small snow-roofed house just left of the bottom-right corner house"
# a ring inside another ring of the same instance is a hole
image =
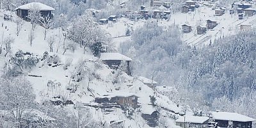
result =
[[[184,115],[180,116],[177,120],[175,120],[176,125],[180,127],[198,127],[198,128],[206,128],[208,127],[209,117],[206,116],[189,116]]]

